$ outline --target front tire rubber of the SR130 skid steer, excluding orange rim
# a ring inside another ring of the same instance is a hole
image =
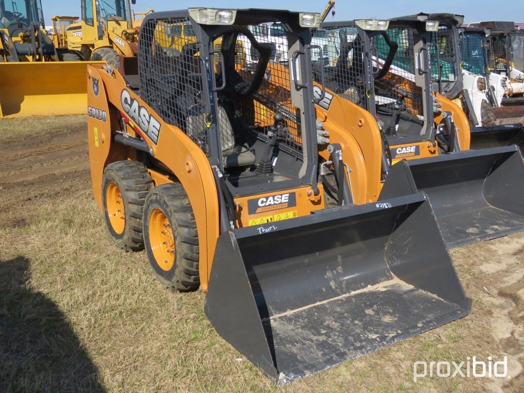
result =
[[[149,217],[160,209],[166,215],[174,237],[174,264],[163,270],[151,250]],[[144,241],[149,264],[158,281],[169,289],[181,292],[200,287],[199,241],[196,222],[188,195],[180,183],[163,184],[149,191],[144,204]]]

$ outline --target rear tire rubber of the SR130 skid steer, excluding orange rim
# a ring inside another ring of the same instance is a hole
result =
[[[125,226],[121,234],[115,232],[107,213],[106,191],[111,182],[118,186],[124,201]],[[116,161],[105,168],[102,177],[104,219],[113,242],[119,248],[126,251],[140,251],[144,249],[144,236],[142,234],[143,208],[147,193],[153,185],[147,168],[141,162]]]

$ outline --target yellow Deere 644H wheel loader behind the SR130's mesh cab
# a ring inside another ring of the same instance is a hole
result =
[[[133,14],[135,0],[81,0],[82,17],[66,29],[67,46],[78,50],[85,60],[105,61],[118,69],[121,58],[136,57],[138,30],[143,17]],[[125,66],[123,64],[123,66]]]

